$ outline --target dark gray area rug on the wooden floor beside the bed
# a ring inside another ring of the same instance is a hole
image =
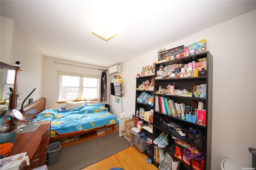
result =
[[[58,162],[47,167],[48,170],[80,170],[120,152],[128,146],[130,143],[124,137],[119,137],[118,132],[110,133],[61,148]]]

